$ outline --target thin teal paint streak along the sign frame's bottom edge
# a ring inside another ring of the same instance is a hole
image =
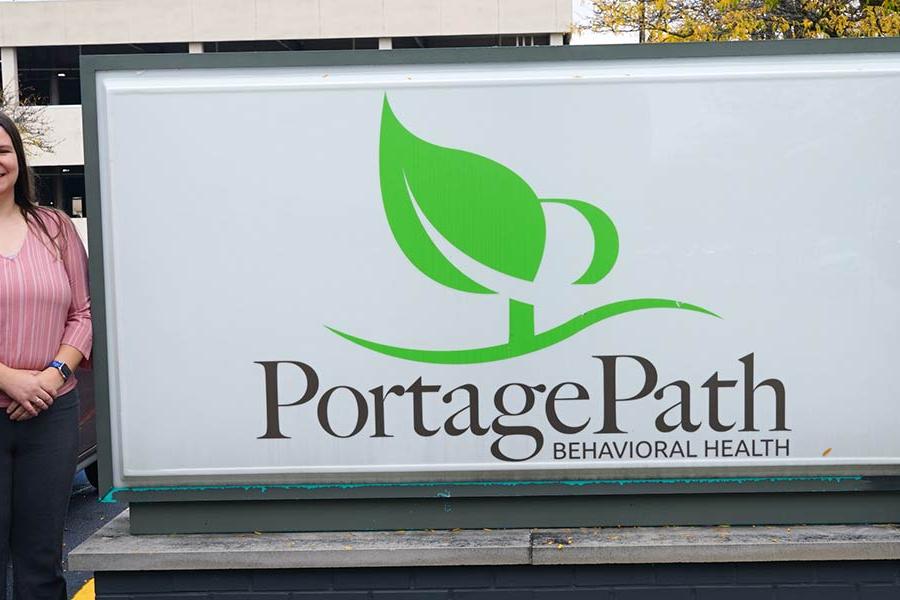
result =
[[[115,495],[119,492],[207,492],[217,490],[243,490],[245,492],[258,492],[265,494],[270,489],[275,490],[350,490],[350,489],[378,489],[378,488],[416,488],[438,487],[443,488],[436,494],[437,497],[447,498],[450,493],[447,487],[519,487],[519,486],[547,486],[563,485],[582,487],[586,485],[597,486],[626,486],[626,485],[710,485],[710,484],[734,484],[746,485],[756,483],[790,483],[790,482],[820,482],[843,483],[846,481],[860,481],[861,475],[822,475],[816,477],[717,477],[717,478],[680,478],[680,479],[586,479],[586,480],[538,480],[538,481],[458,481],[447,482],[412,482],[412,483],[295,483],[278,485],[196,485],[196,486],[160,486],[160,487],[116,487],[110,489],[101,499],[101,502],[116,502]]]

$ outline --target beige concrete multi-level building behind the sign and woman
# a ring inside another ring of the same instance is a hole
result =
[[[47,106],[42,201],[82,214],[81,55],[559,45],[571,22],[571,0],[0,0],[0,74]]]

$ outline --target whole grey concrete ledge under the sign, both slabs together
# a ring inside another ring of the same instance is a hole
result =
[[[141,535],[125,511],[69,554],[75,571],[900,559],[900,526],[627,527]]]

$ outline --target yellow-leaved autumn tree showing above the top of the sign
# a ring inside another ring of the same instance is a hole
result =
[[[594,31],[649,42],[900,35],[900,0],[593,0]]]

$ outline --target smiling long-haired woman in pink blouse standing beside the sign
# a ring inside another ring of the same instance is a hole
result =
[[[65,600],[62,541],[78,446],[72,372],[91,349],[87,257],[35,203],[22,138],[0,113],[0,598]]]

